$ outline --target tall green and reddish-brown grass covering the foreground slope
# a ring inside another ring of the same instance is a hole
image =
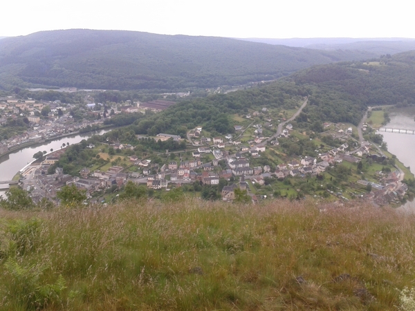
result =
[[[370,205],[0,211],[1,310],[396,310],[415,218]]]

